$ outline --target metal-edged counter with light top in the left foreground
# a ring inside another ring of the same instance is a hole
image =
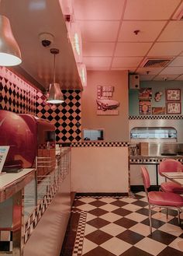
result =
[[[0,175],[0,255],[22,255],[24,200],[27,186],[36,183],[35,173],[31,168]]]

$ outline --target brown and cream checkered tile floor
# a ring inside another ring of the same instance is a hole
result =
[[[78,245],[80,240],[80,248],[78,254],[74,248],[74,256],[183,255],[183,224],[178,226],[177,212],[169,210],[167,219],[164,209],[154,209],[150,235],[144,192],[131,198],[77,197],[73,211],[86,213],[75,242]]]

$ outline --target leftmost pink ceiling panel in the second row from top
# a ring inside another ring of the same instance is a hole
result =
[[[114,42],[119,29],[118,21],[85,21],[79,22],[79,25],[84,41]]]

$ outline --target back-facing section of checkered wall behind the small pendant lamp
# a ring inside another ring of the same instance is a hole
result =
[[[46,96],[36,95],[36,115],[49,120],[56,128],[56,140],[61,142],[79,142],[81,140],[81,91],[62,90],[64,103],[51,105]]]

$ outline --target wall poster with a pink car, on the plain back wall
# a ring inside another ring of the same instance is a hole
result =
[[[119,101],[112,99],[114,86],[97,87],[97,114],[98,115],[117,115],[119,111]]]

